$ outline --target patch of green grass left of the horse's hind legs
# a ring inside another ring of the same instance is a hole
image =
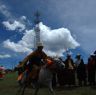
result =
[[[15,95],[18,87],[16,73],[6,74],[3,80],[0,80],[0,95]]]

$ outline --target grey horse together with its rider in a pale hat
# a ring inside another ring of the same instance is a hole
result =
[[[42,62],[42,60],[44,62]],[[26,87],[31,83],[35,86],[34,95],[37,95],[42,84],[48,86],[49,91],[54,95],[52,88],[53,73],[56,73],[57,68],[61,68],[62,64],[43,52],[42,43],[38,43],[37,49],[24,58],[22,65],[25,69],[24,74],[26,74],[26,72],[29,73],[22,77],[22,85],[20,86],[17,95],[19,92],[21,95],[24,95]]]

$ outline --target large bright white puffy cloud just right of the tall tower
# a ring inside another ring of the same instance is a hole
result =
[[[40,23],[41,38],[46,51],[52,55],[62,55],[66,49],[75,49],[80,44],[75,41],[67,28],[50,29]],[[50,53],[51,52],[51,53]]]

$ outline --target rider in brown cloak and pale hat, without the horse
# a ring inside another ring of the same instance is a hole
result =
[[[37,44],[37,49],[24,58],[22,65],[27,71],[29,77],[37,80],[38,74],[43,62],[47,58],[46,53],[43,51],[43,44],[39,42]]]

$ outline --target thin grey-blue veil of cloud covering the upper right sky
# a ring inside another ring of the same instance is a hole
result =
[[[49,6],[47,13],[73,31],[84,52],[96,50],[96,0],[50,0]]]

